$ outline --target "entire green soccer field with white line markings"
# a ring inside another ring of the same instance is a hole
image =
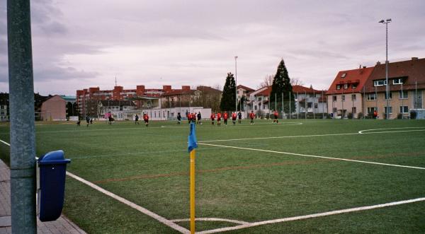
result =
[[[186,122],[40,123],[36,145],[38,156],[62,149],[72,159],[63,213],[87,233],[184,233],[188,131]],[[197,232],[425,230],[422,120],[205,121],[196,135]],[[9,142],[7,125],[0,139]]]

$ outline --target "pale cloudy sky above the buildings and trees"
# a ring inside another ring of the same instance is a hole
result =
[[[338,71],[425,57],[425,1],[33,0],[35,93],[259,88],[283,59],[290,78],[322,90]],[[0,0],[0,92],[8,92],[6,0]],[[234,57],[237,56],[235,61]]]

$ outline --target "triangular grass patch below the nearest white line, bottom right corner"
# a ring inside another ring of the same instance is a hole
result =
[[[273,223],[227,233],[423,233],[425,202]]]

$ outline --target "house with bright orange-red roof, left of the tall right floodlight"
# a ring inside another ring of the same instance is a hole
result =
[[[328,113],[334,117],[346,118],[351,113],[354,118],[364,113],[363,94],[365,83],[372,74],[373,67],[339,71],[326,92]]]

